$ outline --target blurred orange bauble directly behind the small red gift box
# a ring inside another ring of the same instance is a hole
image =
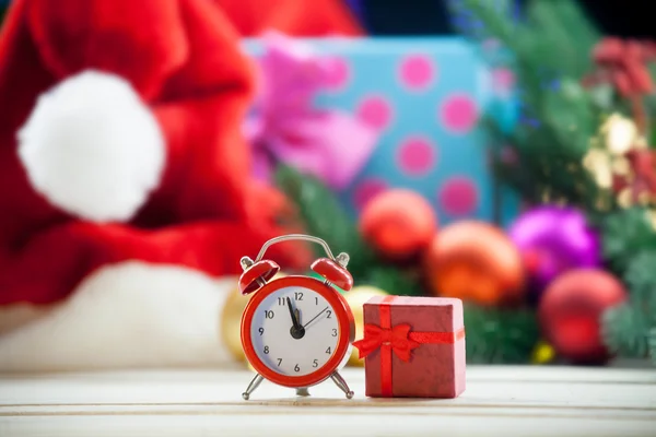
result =
[[[482,305],[517,303],[524,288],[513,241],[497,227],[476,221],[450,224],[434,236],[425,276],[432,294]]]

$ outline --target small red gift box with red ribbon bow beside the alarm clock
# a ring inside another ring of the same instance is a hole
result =
[[[456,398],[465,391],[462,302],[376,296],[364,306],[365,394],[372,398]]]

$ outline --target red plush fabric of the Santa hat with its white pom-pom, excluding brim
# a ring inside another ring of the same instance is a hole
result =
[[[16,0],[0,37],[0,304],[57,302],[132,259],[238,273],[284,232],[280,194],[249,176],[251,93],[212,1]]]

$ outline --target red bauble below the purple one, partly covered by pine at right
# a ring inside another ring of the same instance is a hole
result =
[[[571,270],[546,290],[538,317],[547,341],[576,364],[602,364],[601,314],[626,299],[622,283],[598,269]]]

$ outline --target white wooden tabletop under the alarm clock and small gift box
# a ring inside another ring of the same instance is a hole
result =
[[[656,436],[656,370],[468,367],[455,400],[364,397],[364,370],[296,398],[248,370],[0,376],[0,436]]]

